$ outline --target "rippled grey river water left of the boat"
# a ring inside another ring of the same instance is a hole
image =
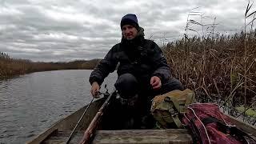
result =
[[[90,72],[57,70],[0,81],[0,143],[25,143],[85,106],[91,100]],[[110,90],[116,78],[106,78]]]

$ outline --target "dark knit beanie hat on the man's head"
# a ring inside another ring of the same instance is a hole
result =
[[[121,23],[120,23],[121,29],[122,29],[122,26],[125,26],[125,25],[134,26],[138,30],[139,26],[138,26],[138,19],[137,19],[136,15],[135,14],[126,14],[125,16],[123,16]]]

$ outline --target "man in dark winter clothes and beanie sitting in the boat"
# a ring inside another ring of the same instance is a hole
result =
[[[122,41],[110,49],[90,74],[91,94],[98,98],[104,78],[119,63],[118,80],[114,86],[120,95],[121,106],[129,107],[126,111],[132,110],[136,118],[142,120],[144,114],[150,114],[150,100],[155,95],[183,90],[183,86],[171,78],[170,67],[159,46],[144,38],[144,30],[138,25],[135,14],[123,16],[120,26]]]

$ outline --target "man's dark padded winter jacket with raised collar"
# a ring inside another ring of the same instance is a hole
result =
[[[162,50],[155,42],[144,39],[143,29],[133,40],[122,38],[122,42],[110,49],[90,74],[90,84],[98,82],[101,85],[118,63],[118,76],[130,73],[138,79],[138,82],[150,82],[152,76],[158,76],[162,83],[170,78],[170,67]]]

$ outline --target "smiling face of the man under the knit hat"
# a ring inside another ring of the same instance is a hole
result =
[[[127,40],[131,40],[138,35],[138,30],[132,25],[124,25],[122,26],[122,35]]]

